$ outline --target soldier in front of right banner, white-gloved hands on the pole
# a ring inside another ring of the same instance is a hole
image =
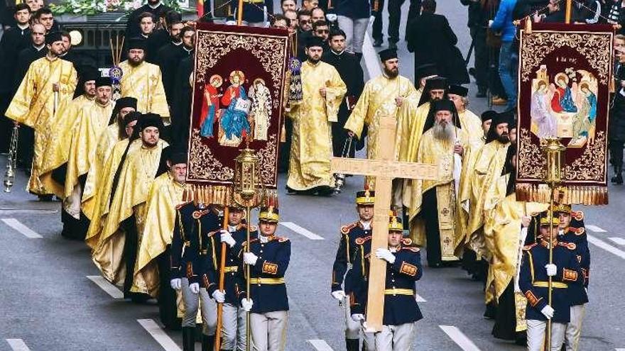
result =
[[[577,245],[558,241],[559,218],[548,212],[540,218],[537,243],[523,247],[518,285],[528,300],[526,309],[528,350],[543,350],[547,320],[551,320],[551,342],[546,350],[559,351],[570,321],[570,291],[582,284],[584,276],[577,261]],[[553,247],[553,263],[549,248]],[[548,280],[552,278],[552,300],[548,303]]]

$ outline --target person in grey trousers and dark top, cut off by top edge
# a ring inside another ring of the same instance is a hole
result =
[[[336,13],[339,28],[345,34],[345,50],[354,52],[360,60],[371,16],[371,3],[369,0],[337,0]]]

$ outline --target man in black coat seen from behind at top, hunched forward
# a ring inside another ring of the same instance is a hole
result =
[[[415,67],[435,63],[442,77],[452,84],[468,84],[469,74],[464,57],[456,44],[458,38],[447,18],[437,15],[436,1],[423,0],[421,16],[408,24],[408,51],[415,53]]]

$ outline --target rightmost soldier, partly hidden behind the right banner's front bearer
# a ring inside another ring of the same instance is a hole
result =
[[[571,320],[567,324],[565,333],[565,345],[567,351],[577,351],[580,348],[582,336],[582,320],[588,302],[588,277],[590,270],[590,250],[584,227],[584,213],[571,211],[570,205],[558,204],[553,212],[560,219],[560,238],[565,243],[575,244],[575,256],[582,268],[583,284],[571,284],[569,296],[571,302]]]

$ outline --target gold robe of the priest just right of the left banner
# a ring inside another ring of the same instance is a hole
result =
[[[332,122],[347,87],[339,73],[325,62],[302,65],[303,100],[291,107],[293,141],[290,149],[287,186],[308,190],[315,186],[334,186],[330,172],[332,157]],[[319,89],[325,88],[325,98]]]

